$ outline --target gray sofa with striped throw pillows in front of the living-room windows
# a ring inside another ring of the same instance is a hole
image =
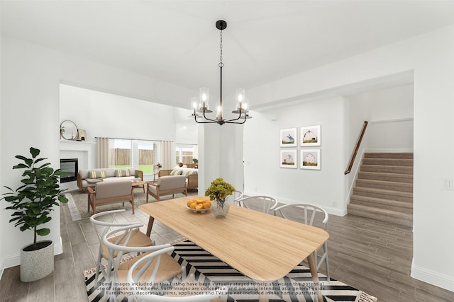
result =
[[[79,170],[77,173],[77,187],[80,190],[94,188],[97,182],[116,182],[121,180],[142,181],[143,171],[135,168],[98,168]]]

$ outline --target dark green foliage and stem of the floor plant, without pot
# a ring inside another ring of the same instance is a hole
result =
[[[66,203],[68,199],[62,194],[58,184],[60,179],[60,169],[54,170],[50,168],[50,163],[43,163],[38,166],[38,163],[48,158],[37,158],[40,154],[39,149],[30,148],[32,158],[17,155],[16,158],[23,161],[18,165],[14,165],[13,169],[23,170],[21,180],[22,184],[16,190],[6,187],[11,192],[6,192],[6,202],[10,202],[11,206],[6,209],[13,210],[13,218],[9,222],[14,222],[14,226],[20,226],[21,231],[33,229],[34,240],[33,250],[37,249],[36,238],[46,236],[50,233],[49,228],[38,228],[43,223],[49,222],[52,217],[50,211],[54,205],[59,205],[59,202]]]

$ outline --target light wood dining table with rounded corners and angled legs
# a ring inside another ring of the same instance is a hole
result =
[[[150,215],[147,235],[160,221],[211,255],[258,283],[259,301],[268,301],[267,289],[307,259],[318,301],[323,301],[314,251],[328,240],[321,228],[229,204],[228,215],[216,219],[211,209],[194,211],[187,202],[207,199],[187,196],[140,205]]]

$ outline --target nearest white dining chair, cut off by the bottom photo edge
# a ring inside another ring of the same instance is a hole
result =
[[[145,257],[140,258],[136,261],[131,268],[128,270],[126,275],[126,283],[132,284],[129,292],[135,293],[133,299],[128,301],[153,301],[153,302],[207,302],[214,301],[216,298],[227,294],[228,288],[223,286],[222,288],[216,288],[214,284],[209,286],[209,290],[206,289],[206,284],[200,284],[195,281],[194,274],[188,279],[185,279],[181,284],[175,286],[169,286],[163,288],[160,284],[157,284],[156,275],[160,269],[161,257],[168,255],[173,252],[175,248],[173,246],[151,252]],[[150,270],[150,266],[154,265],[153,269]],[[148,276],[145,276],[148,272]],[[140,284],[147,284],[140,286]],[[152,289],[150,291],[150,289]],[[189,296],[175,296],[176,293],[181,292],[198,293]],[[163,296],[165,294],[169,296]],[[217,300],[216,300],[217,301]]]

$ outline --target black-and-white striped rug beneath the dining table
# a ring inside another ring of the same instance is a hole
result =
[[[258,286],[255,281],[245,277],[226,263],[218,260],[206,250],[200,248],[189,240],[175,243],[172,257],[182,266],[187,268],[188,275],[194,274],[196,281],[207,287],[228,286],[228,296],[222,297],[226,302],[258,301]],[[240,255],[238,255],[240,257]],[[101,289],[94,289],[94,272],[90,269],[84,272],[87,296],[90,302],[105,301]],[[355,289],[352,286],[327,278],[319,274],[323,301],[355,301],[375,302],[377,298]],[[104,279],[101,279],[101,282]],[[170,284],[172,283],[171,280]],[[289,301],[299,302],[315,301],[315,286],[309,268],[298,265],[287,276],[279,279],[265,288],[270,302]],[[118,301],[126,302],[125,296],[118,296]]]

